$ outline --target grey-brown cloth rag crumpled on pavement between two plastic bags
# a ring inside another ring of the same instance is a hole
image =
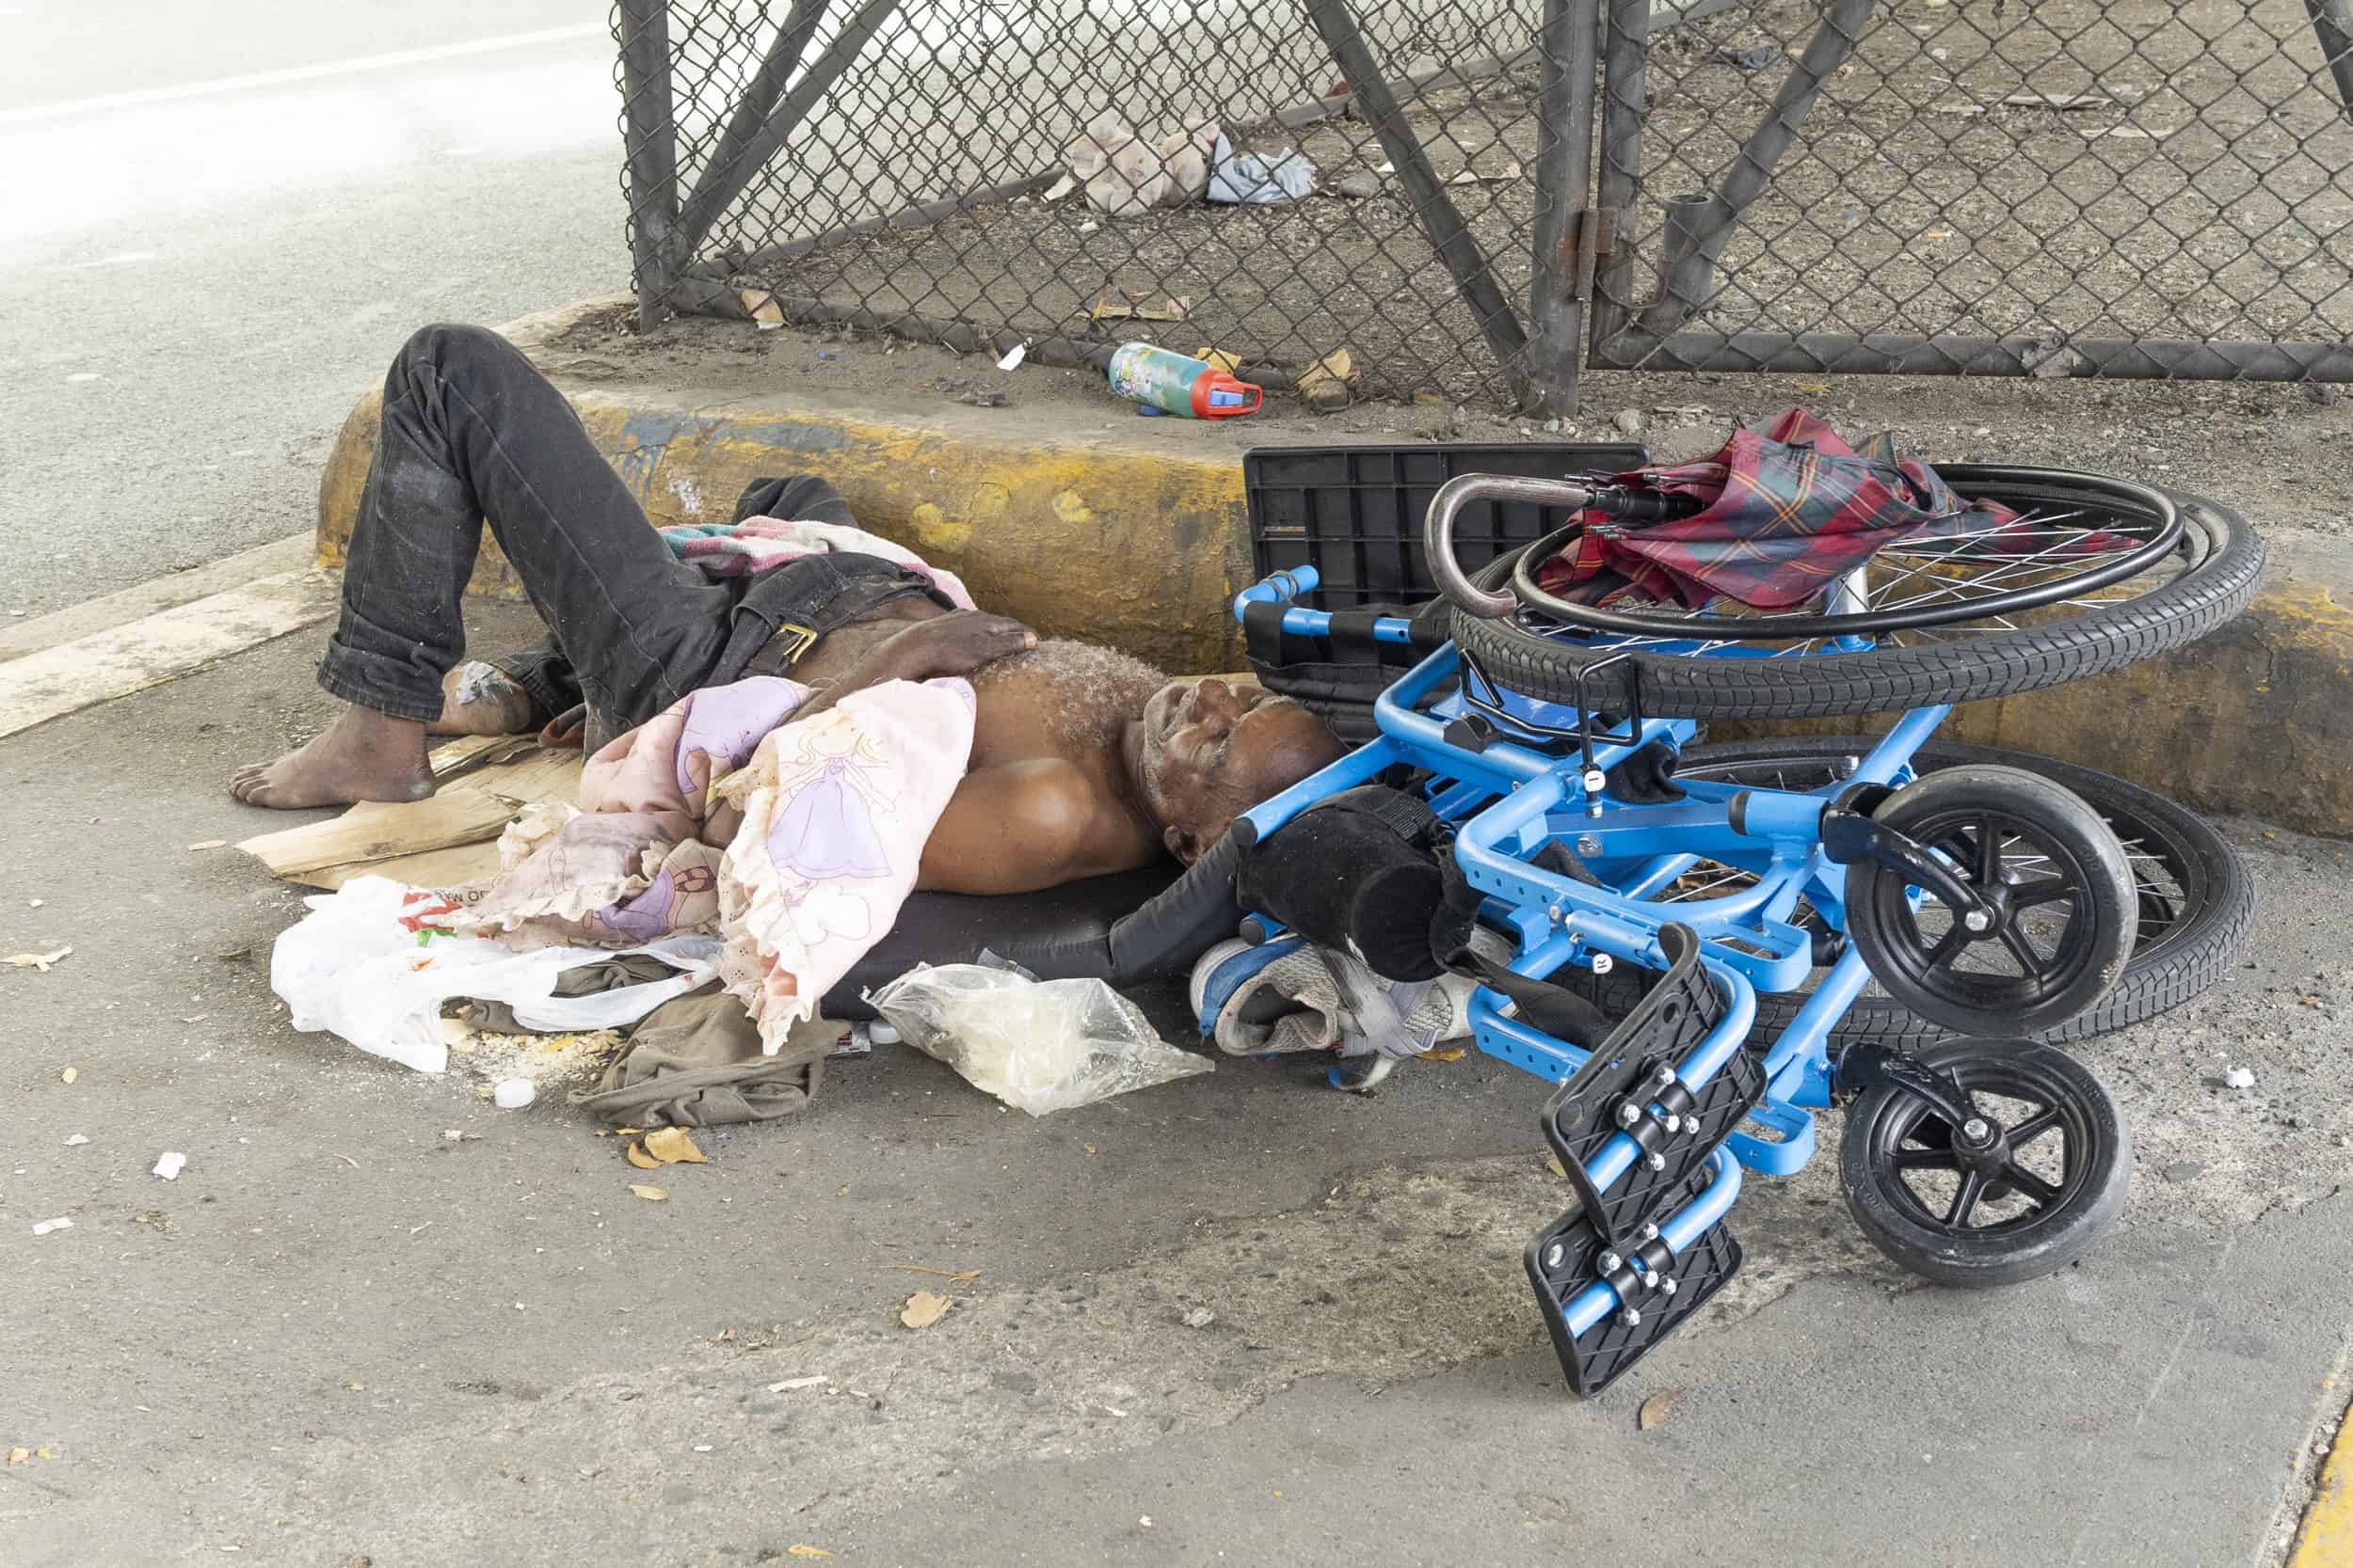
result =
[[[572,1103],[612,1126],[774,1121],[816,1098],[840,1034],[840,1023],[809,1018],[776,1056],[762,1056],[751,1013],[713,980],[647,1013],[598,1086],[574,1091]]]

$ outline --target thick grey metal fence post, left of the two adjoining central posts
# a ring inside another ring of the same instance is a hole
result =
[[[1584,353],[1584,277],[1602,228],[1593,190],[1593,89],[1600,66],[1600,0],[1546,0],[1544,94],[1537,106],[1537,237],[1529,256],[1529,414],[1574,414]]]

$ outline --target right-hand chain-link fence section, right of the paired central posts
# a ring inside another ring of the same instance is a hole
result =
[[[1593,362],[2353,374],[2346,0],[1607,0]]]

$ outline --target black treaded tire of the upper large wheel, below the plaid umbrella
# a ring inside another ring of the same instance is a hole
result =
[[[1979,470],[1967,463],[1941,465],[1939,473],[1965,496],[2097,505],[2120,522],[2129,510],[2106,491],[2092,491],[2082,475]],[[1518,618],[1480,621],[1461,609],[1452,611],[1452,632],[1461,651],[1506,691],[1574,703],[1584,679],[1584,696],[1609,712],[1640,705],[1647,715],[1689,719],[1793,719],[2040,691],[2195,642],[2254,597],[2264,543],[2247,520],[2219,501],[2169,489],[2165,496],[2181,512],[2181,571],[2172,581],[2132,597],[2089,599],[2049,621],[2000,623],[1967,637],[1765,661],[1628,651],[1619,639],[1551,637]],[[1473,581],[1480,588],[1506,585],[1518,557],[1520,550],[1513,550],[1489,562]],[[1614,663],[1598,668],[1602,661]]]

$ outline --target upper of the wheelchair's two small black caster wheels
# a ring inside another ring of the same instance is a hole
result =
[[[1995,764],[1939,769],[1871,820],[1937,851],[1981,907],[1913,907],[1901,870],[1847,867],[1847,936],[1889,997],[1955,1034],[2038,1034],[2099,1001],[2139,903],[2115,832],[2071,790]]]

